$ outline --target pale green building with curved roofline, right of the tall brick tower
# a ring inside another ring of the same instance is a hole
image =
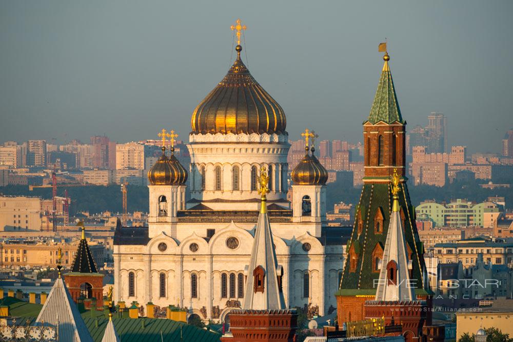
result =
[[[415,208],[417,216],[427,214],[435,227],[490,227],[494,215],[497,217],[500,211],[495,203],[475,204],[464,199],[456,199],[446,205],[426,200]]]

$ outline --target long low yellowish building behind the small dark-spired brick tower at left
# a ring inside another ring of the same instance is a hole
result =
[[[72,243],[56,243],[51,240],[28,240],[10,238],[0,243],[0,267],[55,267],[58,249],[62,249],[62,265],[69,268],[80,240]],[[91,255],[98,267],[104,266],[105,246],[89,243]]]

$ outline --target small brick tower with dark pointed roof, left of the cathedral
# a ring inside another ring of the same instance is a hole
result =
[[[87,245],[85,228],[82,226],[82,238],[73,259],[70,272],[64,275],[71,297],[78,299],[96,299],[96,307],[103,307],[103,274],[98,273],[96,263]],[[90,300],[84,300],[89,308]]]

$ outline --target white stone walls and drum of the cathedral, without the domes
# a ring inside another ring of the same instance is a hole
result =
[[[274,140],[250,142],[251,135],[246,134],[239,134],[245,136],[240,138],[233,134],[208,135],[190,137],[187,191],[185,186],[149,186],[150,217],[144,243],[114,246],[115,301],[187,307],[202,319],[214,321],[223,320],[234,306],[242,305],[244,284],[239,284],[244,282],[244,269],[249,265],[260,206],[258,192],[251,190],[251,167],[258,167],[260,172],[263,165],[272,166],[273,173],[268,204],[275,203],[288,213],[270,215],[278,264],[284,270],[286,306],[311,304],[318,306],[320,315],[330,307],[336,308],[334,293],[342,273],[344,246],[329,244],[321,237],[325,188],[294,188],[292,205],[286,201],[286,136],[252,134],[260,140]],[[234,141],[219,141],[223,139]],[[203,166],[204,190],[199,172]],[[215,179],[216,166],[221,168],[221,182]],[[233,190],[233,166],[241,172],[239,190]],[[219,183],[221,188],[216,189]],[[187,204],[186,192],[191,196]],[[167,201],[165,213],[159,209],[163,195]],[[302,216],[297,209],[301,210],[297,202],[302,202],[305,195],[311,197],[311,207],[315,208],[309,216]],[[200,203],[212,211],[180,214],[185,212],[184,206],[194,210]],[[235,216],[231,222],[230,215]]]

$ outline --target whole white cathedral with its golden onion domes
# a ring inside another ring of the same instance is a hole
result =
[[[326,169],[309,149],[292,172],[287,200],[285,113],[238,57],[192,113],[189,172],[165,148],[149,170],[148,227],[114,235],[114,299],[188,308],[224,321],[246,295],[261,205],[258,174],[269,174],[267,212],[288,308],[319,315],[337,307],[343,246],[326,223]],[[173,136],[171,136],[171,142]]]

